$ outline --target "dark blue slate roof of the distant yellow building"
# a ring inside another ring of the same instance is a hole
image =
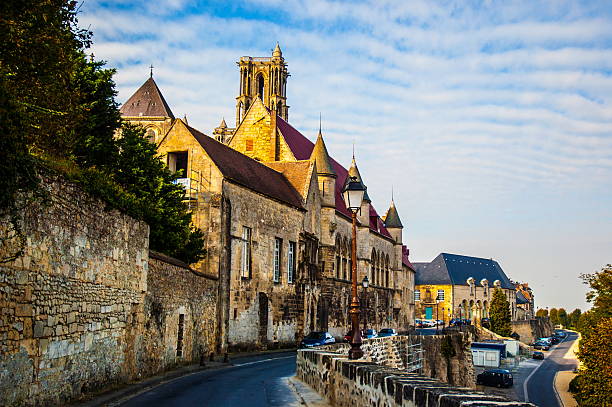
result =
[[[489,286],[499,280],[502,288],[514,290],[514,284],[508,279],[495,260],[458,254],[440,253],[431,263],[413,263],[416,268],[415,284],[452,284],[468,285],[472,277],[477,285],[480,280],[489,280]]]

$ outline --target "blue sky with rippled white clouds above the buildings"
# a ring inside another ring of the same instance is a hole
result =
[[[537,307],[585,310],[612,263],[612,2],[85,0],[118,101],[154,78],[206,134],[235,122],[241,56],[278,41],[289,122],[352,144],[374,206],[394,190],[412,261],[497,260]]]

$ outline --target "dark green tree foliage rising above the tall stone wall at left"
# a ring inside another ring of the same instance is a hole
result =
[[[85,55],[91,33],[77,26],[77,3],[0,2],[0,32],[0,216],[16,219],[18,196],[36,196],[38,169],[51,166],[146,221],[152,249],[200,259],[182,187],[142,129],[121,129],[115,71]]]

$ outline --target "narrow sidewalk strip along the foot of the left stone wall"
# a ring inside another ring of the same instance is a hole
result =
[[[198,373],[203,370],[226,369],[233,366],[232,361],[235,359],[293,351],[293,349],[275,349],[260,352],[230,353],[229,362],[227,363],[223,362],[222,358],[217,358],[218,360],[216,361],[207,361],[203,366],[200,366],[199,364],[181,366],[176,369],[159,373],[155,376],[144,378],[140,381],[117,384],[114,387],[106,388],[96,393],[84,394],[81,399],[74,400],[72,403],[70,403],[70,405],[79,407],[115,406],[125,399],[132,398],[140,393],[151,390],[154,387],[171,382],[181,377]]]

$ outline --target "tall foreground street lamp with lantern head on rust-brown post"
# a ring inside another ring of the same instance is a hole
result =
[[[353,335],[351,336],[351,349],[349,350],[349,359],[359,359],[363,356],[361,350],[361,333],[359,332],[359,298],[357,297],[357,211],[361,209],[365,186],[357,177],[350,177],[342,189],[342,196],[353,219],[353,241],[351,244],[351,305],[349,314],[351,315],[351,323]]]

